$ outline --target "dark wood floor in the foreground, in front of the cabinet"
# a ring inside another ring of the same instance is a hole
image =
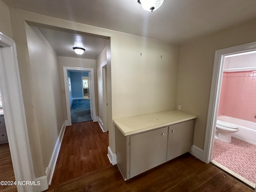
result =
[[[184,154],[124,181],[117,166],[109,166],[66,182],[47,192],[253,192],[212,164]]]

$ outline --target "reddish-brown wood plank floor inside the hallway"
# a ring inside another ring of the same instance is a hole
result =
[[[50,188],[110,166],[107,148],[108,132],[103,133],[98,122],[67,126]]]

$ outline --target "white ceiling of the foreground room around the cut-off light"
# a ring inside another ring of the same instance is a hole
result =
[[[165,0],[155,12],[137,0],[4,0],[36,12],[174,44],[256,18],[256,0]]]

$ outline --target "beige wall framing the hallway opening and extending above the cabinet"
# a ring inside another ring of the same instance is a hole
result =
[[[29,132],[33,132],[36,116],[33,112],[33,96],[30,94],[33,93],[33,90],[31,90],[32,77],[29,71],[30,66],[28,66],[25,21],[110,37],[107,45],[108,111],[110,112],[108,124],[109,145],[113,152],[115,152],[115,138],[114,128],[111,126],[112,118],[149,114],[175,108],[178,46],[17,9],[10,9],[10,19],[13,38],[17,44],[22,94],[25,98],[24,105]],[[61,63],[60,58],[59,62]],[[60,80],[62,82],[62,77]],[[64,90],[63,87],[61,89]],[[112,94],[112,98],[109,94]],[[63,106],[63,111],[65,111],[64,108]],[[35,140],[30,141],[32,146],[35,142]],[[38,154],[39,156],[40,154]]]

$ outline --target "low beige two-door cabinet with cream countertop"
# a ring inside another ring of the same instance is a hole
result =
[[[189,152],[195,118],[174,111],[114,120],[116,162],[124,180]]]

